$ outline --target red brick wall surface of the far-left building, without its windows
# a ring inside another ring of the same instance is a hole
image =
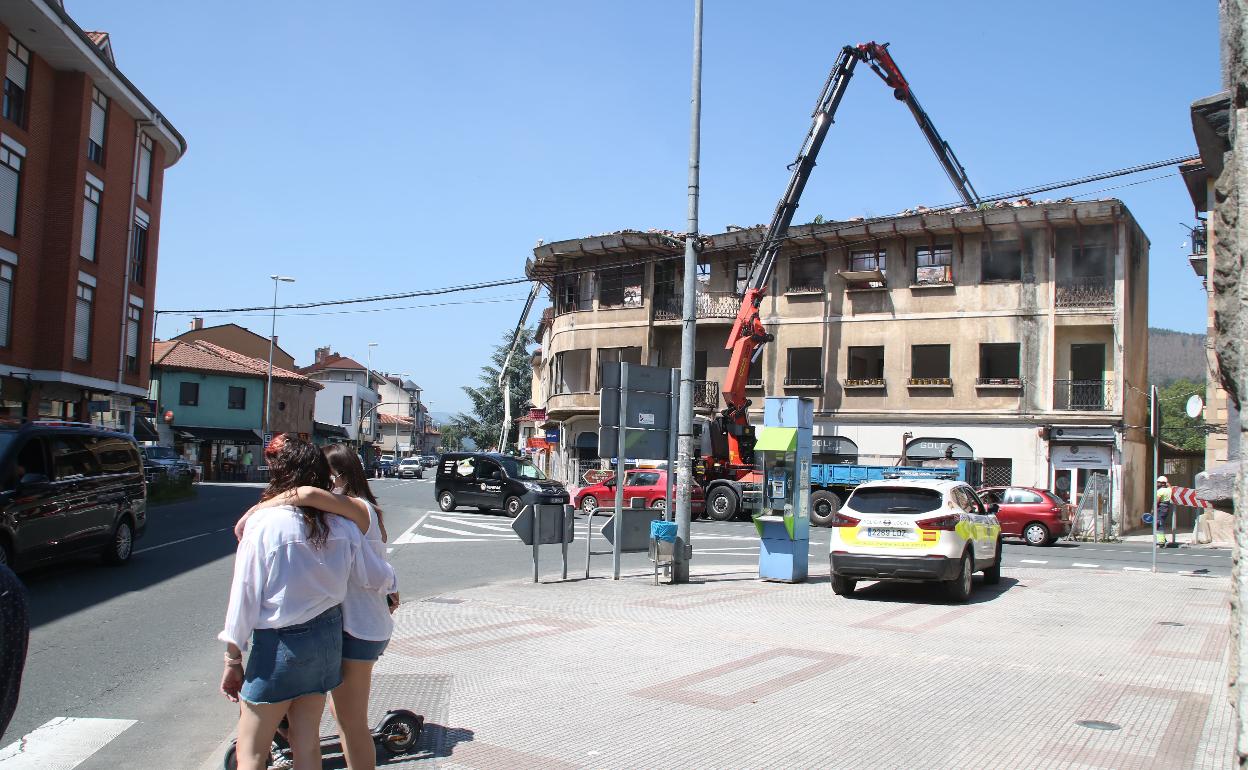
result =
[[[0,85],[9,36],[0,11]],[[30,49],[26,125],[0,116],[0,134],[9,146],[16,142],[25,150],[16,235],[0,232],[0,248],[17,255],[10,344],[0,346],[2,406],[10,414],[32,418],[40,416],[42,402],[44,416],[85,419],[87,401],[116,393],[141,397],[147,391],[161,193],[170,158],[167,141],[152,141],[150,193],[146,198],[141,191],[135,193],[137,132],[142,127],[157,140],[157,132],[166,131],[167,139],[171,129],[167,124],[156,126],[150,119],[140,126],[140,119],[127,112],[126,99],[121,97],[121,89],[129,87],[132,94],[132,86],[120,75],[114,77],[115,70],[100,67],[87,55],[82,71],[57,70],[40,54],[41,35],[21,37],[19,32],[17,40]],[[92,71],[91,64],[102,75],[99,80],[86,74]],[[90,160],[86,150],[92,86],[110,95],[102,165]],[[181,142],[181,137],[177,140]],[[94,261],[80,256],[87,175],[104,182]],[[127,291],[131,227],[140,216],[131,216],[131,206],[147,215],[150,226],[145,270],[140,281],[129,281]],[[74,357],[80,273],[95,280],[86,361]],[[122,358],[131,297],[141,302],[137,371],[131,371]],[[47,402],[60,406],[49,407]]]

